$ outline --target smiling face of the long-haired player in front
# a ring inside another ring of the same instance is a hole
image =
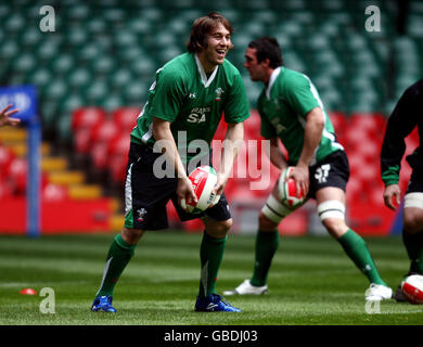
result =
[[[207,35],[206,42],[206,47],[198,52],[198,59],[206,74],[209,74],[217,65],[223,64],[228,51],[232,48],[231,34],[219,23],[216,28]]]

